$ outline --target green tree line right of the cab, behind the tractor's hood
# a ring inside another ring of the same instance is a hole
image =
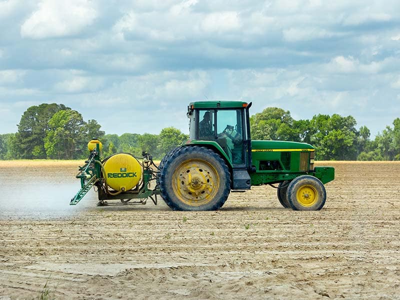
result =
[[[252,139],[276,139],[312,144],[317,160],[400,160],[400,118],[370,139],[366,126],[356,129],[353,116],[316,114],[295,120],[289,111],[265,108],[250,117]]]

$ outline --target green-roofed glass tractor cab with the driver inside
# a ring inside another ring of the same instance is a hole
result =
[[[189,138],[216,142],[232,167],[249,163],[248,108],[242,101],[198,101],[187,107]]]

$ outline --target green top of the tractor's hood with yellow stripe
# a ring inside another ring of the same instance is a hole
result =
[[[252,140],[251,152],[272,151],[312,151],[313,146],[305,142],[283,141],[283,140]]]

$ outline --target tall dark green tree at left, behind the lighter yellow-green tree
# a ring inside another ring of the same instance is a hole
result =
[[[70,108],[56,103],[42,103],[26,109],[17,125],[19,151],[15,158],[46,158],[43,140],[49,130],[48,121],[55,112],[68,109]]]

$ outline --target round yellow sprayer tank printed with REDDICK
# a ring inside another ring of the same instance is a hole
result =
[[[117,153],[105,160],[103,176],[112,189],[129,190],[140,180],[141,165],[132,155]]]

